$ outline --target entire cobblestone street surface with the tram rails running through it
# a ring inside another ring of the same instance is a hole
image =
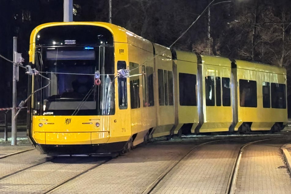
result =
[[[151,193],[224,193],[237,151],[248,141],[251,140],[246,136],[241,141],[225,140],[195,148]],[[288,138],[246,147],[235,193],[290,193],[291,179],[280,152],[280,147],[287,142]],[[185,156],[194,144],[198,144],[197,141],[189,140],[183,144],[168,141],[137,147],[66,182],[51,193],[142,193],[169,166]],[[24,149],[28,145],[17,147]],[[11,149],[8,144],[0,145],[0,153],[11,152]],[[0,177],[49,159],[37,150],[2,158]],[[57,157],[0,179],[0,193],[43,193],[102,162],[104,158],[99,157]]]

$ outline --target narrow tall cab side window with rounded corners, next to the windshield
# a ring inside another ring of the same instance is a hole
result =
[[[126,69],[125,61],[117,62],[117,69]],[[118,105],[119,109],[127,109],[127,84],[125,77],[118,78]]]

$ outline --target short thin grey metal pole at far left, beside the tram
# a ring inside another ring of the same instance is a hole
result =
[[[16,62],[15,53],[17,52],[17,37],[13,37],[13,62]],[[14,116],[17,112],[17,91],[16,91],[16,82],[17,82],[17,65],[13,64],[13,96],[12,96],[12,115],[11,115],[11,145],[17,145],[17,118],[14,119]]]

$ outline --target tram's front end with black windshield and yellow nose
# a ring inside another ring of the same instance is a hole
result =
[[[105,146],[115,114],[112,33],[95,25],[43,24],[30,44],[32,68],[44,76],[29,79],[31,143],[48,155],[114,151]]]

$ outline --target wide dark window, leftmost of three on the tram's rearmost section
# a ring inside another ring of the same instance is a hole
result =
[[[257,107],[257,82],[252,80],[239,80],[240,106]]]

